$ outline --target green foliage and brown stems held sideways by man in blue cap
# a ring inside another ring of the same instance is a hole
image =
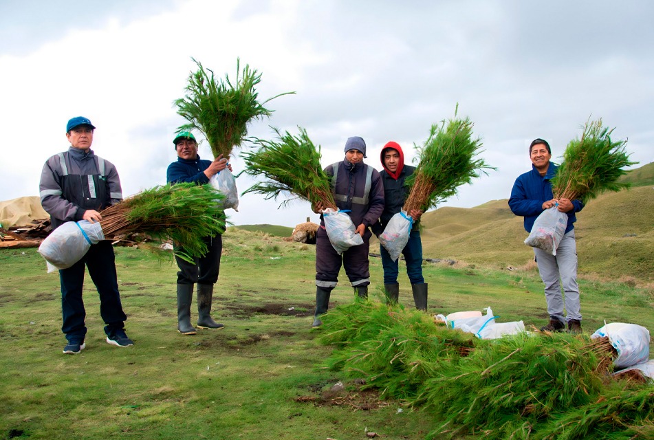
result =
[[[210,185],[155,186],[102,210],[100,225],[105,236],[141,232],[171,239],[175,254],[192,262],[208,251],[203,237],[225,232],[222,198]]]

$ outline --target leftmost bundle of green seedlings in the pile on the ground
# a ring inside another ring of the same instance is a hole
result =
[[[364,378],[397,399],[415,399],[427,377],[477,344],[470,333],[436,327],[420,311],[373,301],[336,307],[324,316],[322,330],[320,342],[338,347],[325,362],[329,369]]]

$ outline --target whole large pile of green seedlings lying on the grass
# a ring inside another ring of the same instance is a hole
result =
[[[327,365],[428,412],[429,438],[651,438],[651,386],[616,386],[607,374],[613,353],[587,336],[476,340],[418,316],[372,303],[336,307],[323,317],[321,340],[336,346]]]

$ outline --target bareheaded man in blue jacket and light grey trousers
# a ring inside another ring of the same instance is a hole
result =
[[[536,218],[548,208],[556,206],[567,213],[565,235],[556,249],[556,256],[534,248],[538,272],[545,283],[545,300],[549,323],[541,330],[561,331],[567,322],[568,331],[581,331],[579,287],[577,285],[577,246],[574,237],[575,212],[584,207],[579,200],[554,199],[550,181],[556,175],[558,166],[549,162],[552,150],[547,141],[535,139],[529,146],[532,170],[520,175],[511,191],[509,206],[516,215],[525,218],[525,230],[531,232]],[[561,287],[565,298],[561,294]],[[565,320],[563,306],[565,302]]]

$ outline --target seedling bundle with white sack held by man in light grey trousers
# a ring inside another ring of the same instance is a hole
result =
[[[629,185],[618,179],[625,167],[636,164],[626,153],[626,140],[611,140],[615,129],[602,126],[602,120],[586,122],[580,139],[571,140],[563,153],[563,162],[552,178],[554,199],[587,203],[602,192],[619,191]],[[532,248],[556,255],[556,248],[567,226],[567,214],[556,206],[538,216],[525,240]]]

